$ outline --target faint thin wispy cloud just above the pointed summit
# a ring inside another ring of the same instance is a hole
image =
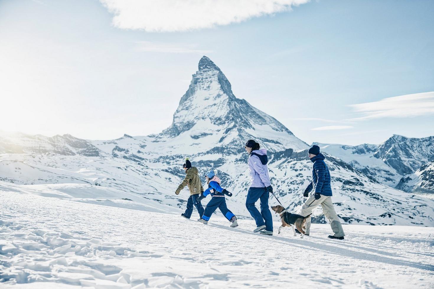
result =
[[[166,53],[197,53],[197,54],[209,54],[212,50],[197,49],[196,44],[189,43],[165,43],[165,42],[149,42],[149,41],[137,41],[136,51],[141,52],[166,52]]]

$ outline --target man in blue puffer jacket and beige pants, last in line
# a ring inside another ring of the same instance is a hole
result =
[[[344,239],[344,230],[342,229],[339,217],[335,212],[332,203],[332,186],[330,185],[329,168],[324,162],[325,156],[319,152],[319,146],[312,146],[309,149],[309,158],[313,162],[312,182],[309,183],[304,191],[303,196],[309,197],[309,192],[315,192],[304,203],[301,209],[301,215],[307,216],[314,208],[321,205],[325,217],[329,220],[334,235],[330,235],[331,239]],[[306,235],[310,233],[310,217],[306,219]],[[298,230],[297,230],[298,231]]]

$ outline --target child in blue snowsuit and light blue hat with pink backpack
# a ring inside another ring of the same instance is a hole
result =
[[[228,195],[229,197],[232,196],[232,193],[228,192],[226,189],[220,187],[220,179],[217,177],[217,175],[214,173],[214,171],[209,171],[205,175],[205,180],[208,183],[208,188],[201,194],[197,201],[201,201],[203,198],[205,198],[207,195],[211,195],[212,199],[208,202],[208,205],[205,207],[204,214],[202,215],[202,218],[198,219],[197,221],[207,224],[209,219],[211,218],[211,215],[214,213],[217,208],[220,209],[221,213],[230,221],[232,224],[230,227],[237,227],[237,217],[227,208],[226,206],[226,199],[224,198],[224,195]]]

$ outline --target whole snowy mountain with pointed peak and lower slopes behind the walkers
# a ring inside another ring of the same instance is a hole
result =
[[[247,140],[255,139],[268,150],[274,191],[291,211],[299,212],[301,192],[310,181],[312,169],[307,158],[309,146],[273,117],[237,99],[223,72],[206,57],[199,62],[174,122],[164,132],[124,135],[116,140],[82,140],[95,147],[98,156],[73,151],[66,141],[41,152],[38,143],[47,146],[46,139],[25,136],[24,142],[22,136],[17,140],[2,138],[7,146],[17,143],[26,151],[0,155],[0,180],[21,185],[97,185],[136,193],[152,206],[168,205],[178,210],[185,207],[189,195],[187,189],[174,195],[184,178],[181,166],[188,156],[201,175],[218,169],[222,185],[234,194],[228,198],[229,208],[240,218],[250,218],[245,207],[250,186],[243,148]],[[73,154],[58,153],[66,149]],[[373,153],[372,146],[364,150],[365,154]],[[383,185],[377,175],[355,169],[332,155],[327,155],[326,162],[332,170],[333,200],[343,224],[433,225],[432,201]],[[273,196],[270,203],[276,203]],[[316,222],[325,222],[320,208],[313,213]]]

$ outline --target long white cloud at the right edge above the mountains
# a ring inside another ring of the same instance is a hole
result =
[[[434,91],[406,94],[384,98],[364,104],[351,104],[349,107],[361,114],[349,120],[367,120],[383,117],[417,117],[434,114]]]

